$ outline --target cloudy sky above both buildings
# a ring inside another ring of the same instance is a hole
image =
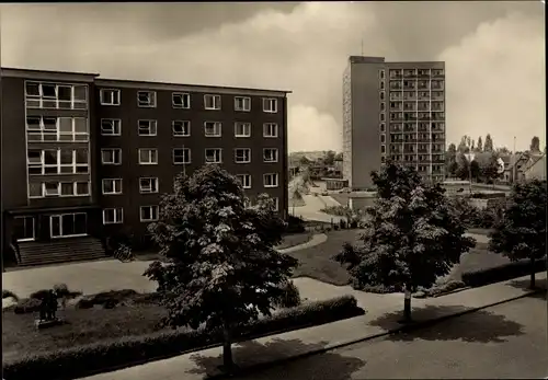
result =
[[[289,151],[342,149],[350,55],[446,62],[447,143],[546,141],[540,1],[0,4],[3,67],[290,90]]]

